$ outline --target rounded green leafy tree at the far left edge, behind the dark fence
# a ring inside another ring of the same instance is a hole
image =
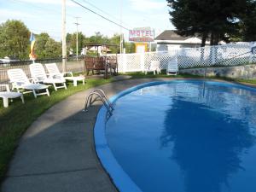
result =
[[[0,26],[0,57],[28,58],[29,37],[30,32],[22,21],[7,20]]]

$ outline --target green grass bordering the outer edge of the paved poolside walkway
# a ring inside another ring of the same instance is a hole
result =
[[[166,74],[153,75],[153,73],[126,73],[131,75],[133,79],[141,78],[202,78],[195,75],[177,75],[167,76]],[[219,79],[219,78],[218,78]],[[228,79],[231,80],[231,79]],[[246,82],[256,84],[256,80],[245,81],[238,80],[239,82]],[[79,84],[74,87],[73,84],[68,84],[68,89],[64,90],[50,90],[50,96],[38,96],[34,99],[32,94],[25,95],[26,104],[22,104],[20,99],[17,98],[14,102],[10,103],[9,108],[3,108],[3,101],[0,100],[0,181],[3,179],[5,172],[8,169],[9,160],[14,154],[17,143],[29,125],[37,119],[40,114],[45,110],[52,107],[56,102],[71,96],[81,90],[86,90],[101,84],[113,82],[113,79],[87,79],[86,84]]]

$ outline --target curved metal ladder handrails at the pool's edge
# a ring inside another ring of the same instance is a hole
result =
[[[108,97],[106,96],[105,92],[100,89],[91,90],[89,95],[86,97],[86,102],[84,104],[84,112],[88,112],[88,108],[96,102],[102,101],[105,108],[107,108],[108,113],[112,114],[113,112],[113,104],[109,102]]]

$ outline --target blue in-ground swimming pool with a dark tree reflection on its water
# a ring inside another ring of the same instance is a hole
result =
[[[120,191],[255,192],[256,90],[151,82],[98,114],[96,152]]]

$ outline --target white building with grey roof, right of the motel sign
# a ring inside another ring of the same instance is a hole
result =
[[[166,51],[179,48],[196,48],[201,47],[201,38],[183,37],[178,35],[174,30],[166,30],[154,38],[157,51]],[[210,44],[209,41],[206,42]]]

